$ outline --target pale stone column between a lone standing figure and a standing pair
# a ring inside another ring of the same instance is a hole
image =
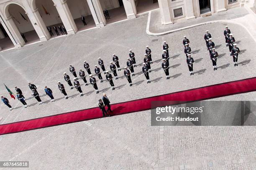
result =
[[[90,7],[93,20],[97,28],[102,28],[106,25],[106,20],[103,15],[103,10],[99,0],[87,0]]]

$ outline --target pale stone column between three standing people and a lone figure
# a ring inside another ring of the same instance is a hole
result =
[[[68,34],[74,34],[77,32],[77,25],[74,23],[74,19],[70,13],[67,5],[67,0],[53,0],[59,17],[64,24]]]

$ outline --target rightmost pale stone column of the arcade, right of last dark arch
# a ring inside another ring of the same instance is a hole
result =
[[[172,24],[172,12],[169,7],[169,0],[158,0],[162,24]]]

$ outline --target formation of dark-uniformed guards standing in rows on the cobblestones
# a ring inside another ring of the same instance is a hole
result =
[[[204,39],[205,39],[205,42],[207,45],[207,50],[209,51],[210,60],[212,60],[213,70],[217,70],[218,52],[215,51],[215,48],[214,48],[215,44],[214,44],[214,42],[212,42],[211,34],[209,33],[208,30],[205,32],[206,33],[204,35]],[[225,35],[226,46],[229,47],[230,56],[233,56],[234,66],[238,66],[237,61],[238,61],[238,53],[240,52],[240,50],[238,47],[236,47],[236,43],[234,43],[234,42],[236,42],[236,40],[233,37],[233,34],[231,34],[228,27],[225,27],[224,35]],[[170,79],[170,77],[169,77],[169,68],[170,68],[169,67],[169,45],[166,43],[166,41],[164,41],[163,43],[164,44],[163,44],[163,54],[162,54],[161,66],[165,72],[166,79],[168,80],[168,79]],[[190,75],[194,75],[194,72],[193,72],[194,59],[193,59],[193,57],[191,57],[192,50],[189,47],[189,43],[190,42],[189,42],[189,39],[187,39],[187,36],[184,36],[184,40],[183,40],[184,53],[186,54],[186,57],[187,57],[187,65],[189,68],[189,73],[190,73]],[[144,75],[146,77],[147,83],[151,83],[150,78],[149,78],[149,73],[151,72],[151,64],[153,64],[151,53],[152,53],[152,51],[149,48],[149,46],[146,46],[146,50],[145,50],[145,54],[144,54],[144,58],[143,58],[142,72],[144,73]],[[117,71],[121,71],[118,56],[113,54],[113,61],[110,62],[110,70],[112,71],[113,75],[108,70],[105,69],[104,62],[101,58],[98,58],[98,64],[100,65],[100,67],[95,65],[94,72],[97,75],[97,77],[99,78],[100,83],[103,82],[103,78],[102,78],[101,70],[100,70],[100,68],[101,68],[105,74],[106,80],[110,83],[112,90],[115,90],[113,78],[115,77],[115,80],[117,80],[118,79]],[[124,67],[123,74],[126,77],[126,79],[128,80],[128,83],[130,84],[130,86],[132,86],[133,84],[132,84],[131,76],[135,75],[134,67],[137,67],[135,54],[132,50],[129,50],[129,57],[127,58],[126,65],[127,66]],[[97,86],[97,80],[92,75],[92,72],[90,70],[90,65],[89,65],[89,63],[87,63],[87,61],[84,61],[84,68],[90,77],[90,79],[89,79],[90,84],[94,87],[96,94],[99,93],[98,86]],[[73,84],[71,82],[69,75],[67,75],[66,72],[64,72],[64,80],[67,82],[67,84],[70,86],[71,89],[73,89],[75,87],[77,89],[77,91],[80,93],[80,96],[83,96],[82,88],[80,86],[80,82],[78,81],[76,70],[72,65],[69,65],[69,71],[72,73],[72,75],[74,75]],[[79,69],[79,77],[81,77],[81,79],[85,83],[85,86],[87,86],[88,82],[86,80],[86,75],[82,69]],[[42,104],[42,101],[41,101],[39,94],[36,90],[37,89],[36,85],[33,85],[33,84],[31,84],[31,82],[29,82],[28,86],[32,91],[32,96],[36,98],[36,100],[39,102],[39,104]],[[59,87],[59,90],[61,91],[61,93],[65,96],[65,99],[68,99],[69,97],[64,88],[64,85],[61,84],[61,82],[58,82],[58,87]],[[22,91],[16,86],[15,86],[15,90],[17,92],[18,100],[20,100],[20,102],[24,105],[24,107],[27,107],[27,104],[25,101],[26,99],[23,96]],[[54,102],[55,100],[54,100],[52,90],[50,88],[48,88],[47,86],[45,86],[44,90],[46,92],[46,95],[48,95],[51,98],[51,102]],[[12,110],[12,107],[10,106],[8,99],[3,96],[1,96],[1,98],[2,98],[2,101],[5,103],[5,105],[10,107],[10,110]]]

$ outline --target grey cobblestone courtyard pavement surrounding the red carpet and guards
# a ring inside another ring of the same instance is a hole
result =
[[[0,117],[3,119],[0,123],[96,107],[102,92],[106,92],[115,103],[256,75],[256,62],[253,60],[256,44],[241,26],[228,24],[241,50],[239,65],[234,67],[223,37],[226,23],[201,25],[169,35],[151,37],[145,32],[147,18],[145,15],[102,29],[87,30],[20,50],[1,52],[1,82],[11,90],[15,85],[20,87],[28,99],[29,107],[24,109],[18,101],[10,99],[15,108],[10,112],[1,103]],[[210,30],[220,54],[217,62],[219,69],[215,72],[203,40],[205,30]],[[188,74],[182,46],[184,35],[191,42],[192,57],[195,59],[194,76]],[[160,65],[161,44],[164,40],[170,46],[170,80],[165,79]],[[124,67],[129,49],[135,52],[138,63],[142,63],[146,45],[150,46],[153,60],[156,60],[150,74],[151,84],[146,83],[141,74],[141,66],[135,68],[136,77],[133,77],[132,87],[127,85],[122,71],[118,72],[122,77],[114,80],[115,91],[110,89],[108,82],[98,82],[101,92],[97,95],[91,85],[82,85],[85,95],[79,97],[78,92],[69,90],[63,80],[63,72],[69,72],[69,64],[79,70],[84,60],[93,67],[97,64],[97,58],[101,57],[109,70],[113,53],[120,58],[120,65]],[[70,96],[68,100],[58,91],[56,82],[59,80],[67,88]],[[38,87],[43,105],[38,105],[30,97],[28,81]],[[44,85],[53,90],[57,99],[55,102],[50,102],[49,97],[44,95]],[[3,86],[0,87],[0,93],[8,96]],[[256,100],[256,92],[215,100]],[[253,170],[256,167],[254,138],[255,127],[153,127],[150,125],[150,111],[143,111],[0,136],[0,160],[29,160],[30,169],[54,170]]]

